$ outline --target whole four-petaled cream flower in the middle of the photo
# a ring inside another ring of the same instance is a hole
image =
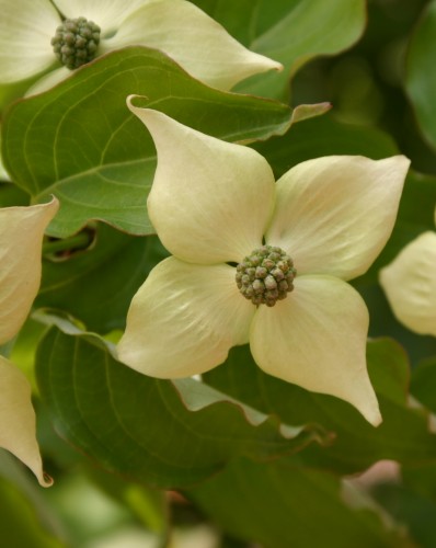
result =
[[[266,160],[131,105],[158,167],[150,219],[173,256],[135,295],[119,341],[128,366],[202,374],[250,343],[266,373],[381,421],[366,367],[368,311],[346,283],[387,242],[409,160],[309,160],[275,183]]]

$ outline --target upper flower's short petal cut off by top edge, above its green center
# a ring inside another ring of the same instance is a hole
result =
[[[147,0],[54,0],[59,11],[68,19],[85,18],[101,28],[101,36],[115,32],[124,19],[135,12]],[[130,45],[133,45],[130,43]],[[100,55],[100,52],[99,52]]]

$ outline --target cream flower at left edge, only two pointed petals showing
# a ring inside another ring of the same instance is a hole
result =
[[[56,199],[0,209],[0,344],[20,331],[36,297],[44,230],[57,209]],[[42,486],[51,484],[43,472],[30,383],[3,356],[0,356],[0,447],[20,458]]]

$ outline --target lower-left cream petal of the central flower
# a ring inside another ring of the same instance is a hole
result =
[[[255,307],[239,293],[234,269],[171,256],[135,295],[119,358],[158,378],[188,377],[221,364],[246,343]]]

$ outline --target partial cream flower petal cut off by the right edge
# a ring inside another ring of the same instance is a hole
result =
[[[435,209],[436,224],[436,209]],[[397,319],[410,330],[436,336],[436,232],[411,241],[380,271],[380,284]]]

